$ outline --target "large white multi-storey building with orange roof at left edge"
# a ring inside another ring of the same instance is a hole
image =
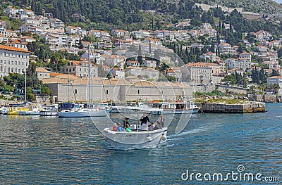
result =
[[[9,72],[25,73],[29,55],[30,51],[0,45],[0,77],[7,76]]]

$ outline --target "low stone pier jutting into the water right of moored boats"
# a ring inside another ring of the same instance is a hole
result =
[[[262,113],[265,112],[265,103],[248,102],[243,104],[203,103],[204,113]]]

